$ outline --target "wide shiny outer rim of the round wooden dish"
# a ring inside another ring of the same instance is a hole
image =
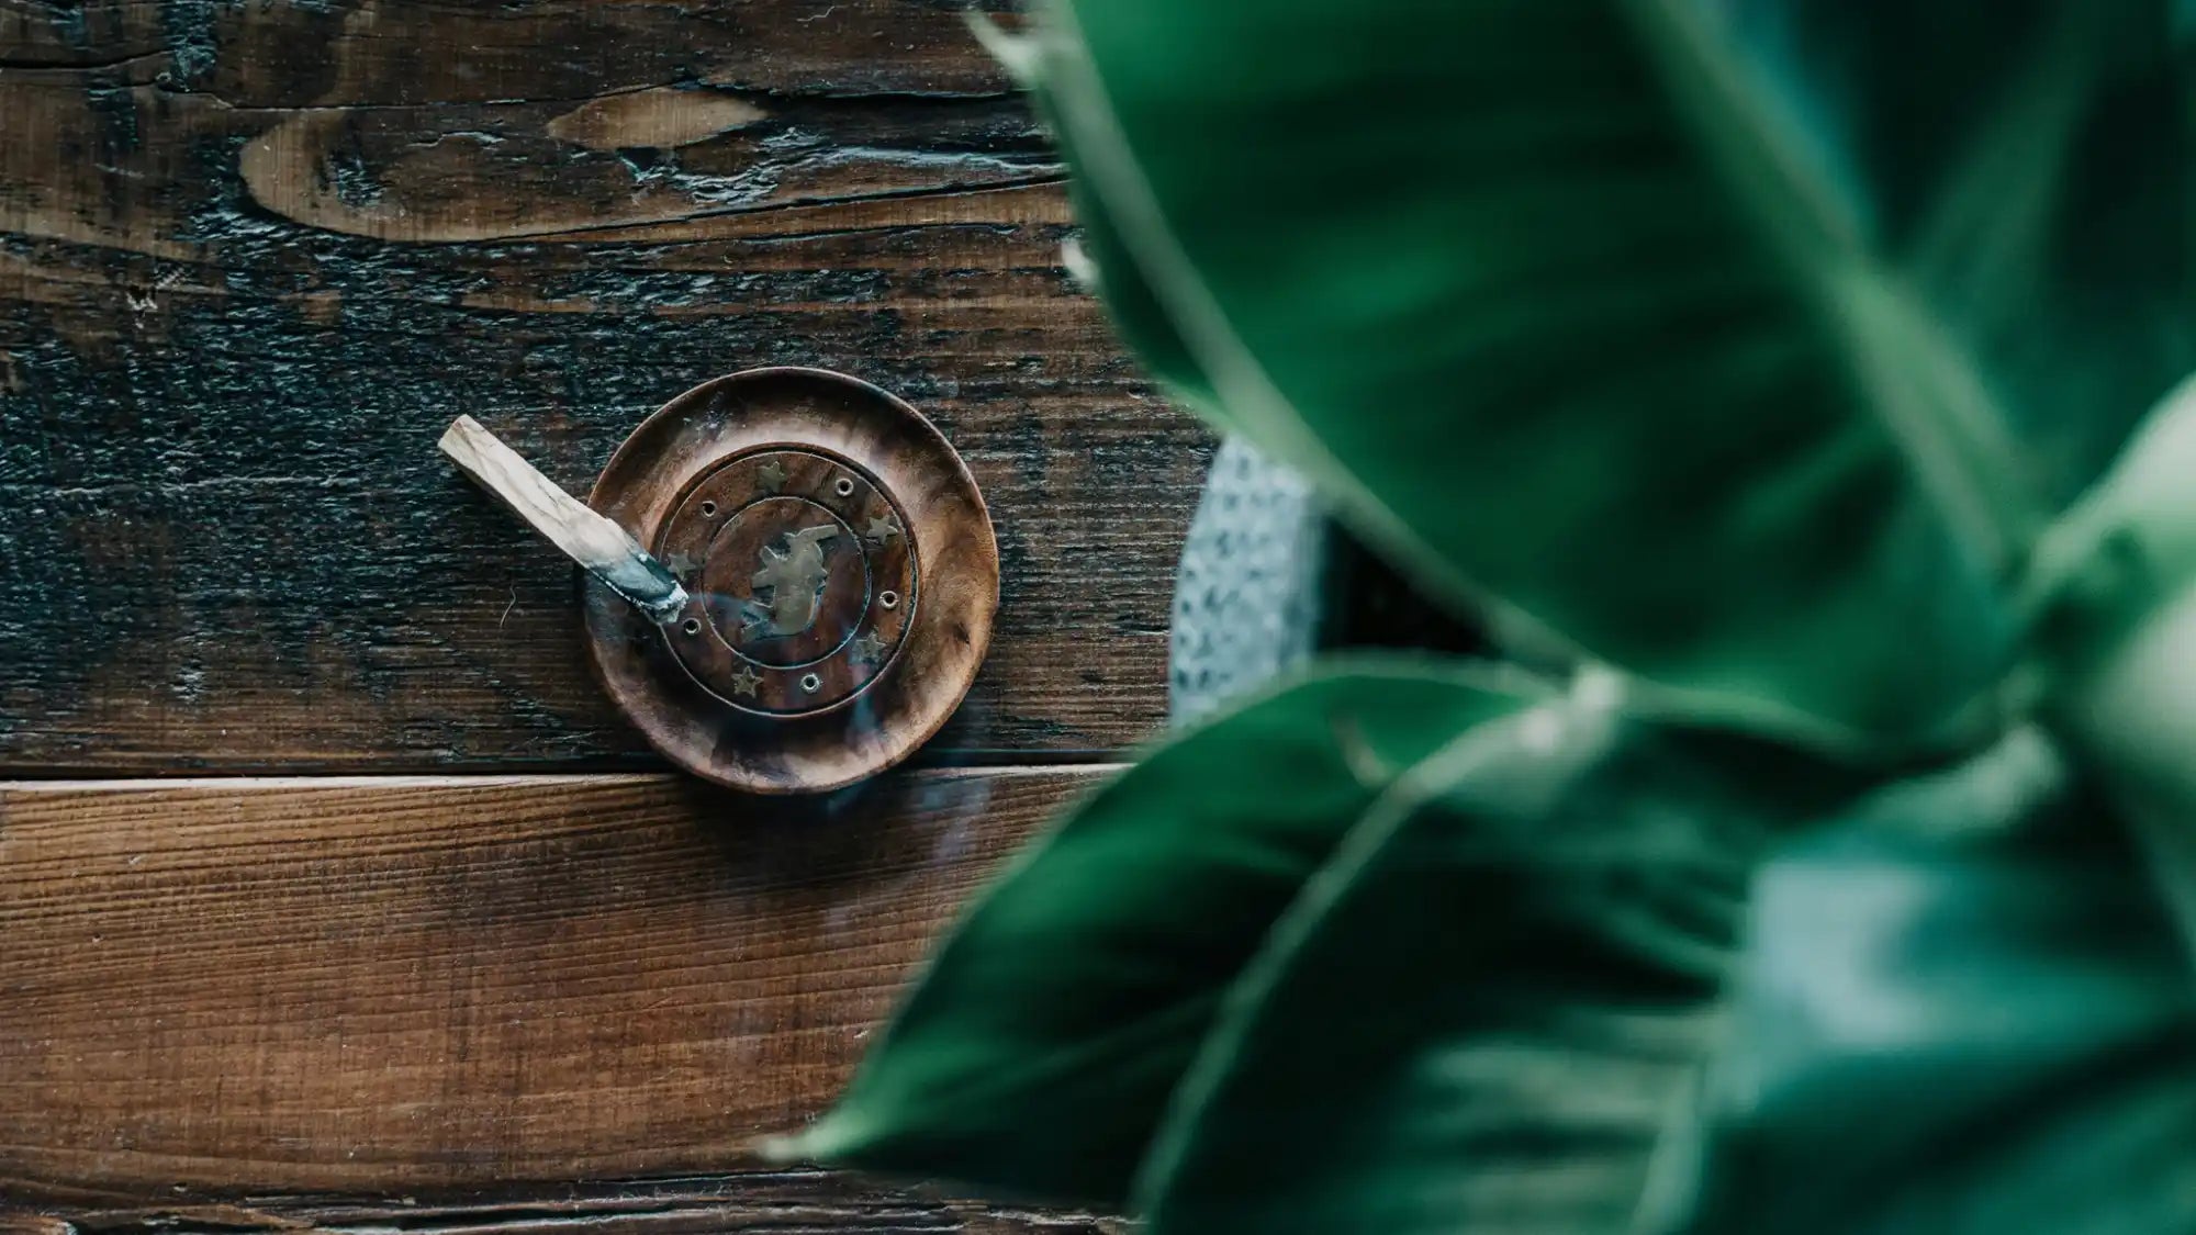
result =
[[[668,631],[582,576],[586,655],[604,692],[668,760],[749,793],[819,793],[898,765],[960,708],[990,646],[999,545],[966,464],[911,404],[830,369],[712,378],[648,415],[589,505],[654,545],[694,486],[766,448],[837,455],[900,512],[920,602],[876,679],[841,705],[764,716],[696,681]]]

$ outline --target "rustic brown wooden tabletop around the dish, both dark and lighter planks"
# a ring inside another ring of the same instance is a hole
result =
[[[1034,1231],[769,1171],[997,859],[1164,703],[1203,435],[929,0],[0,0],[0,1231]],[[1004,607],[918,767],[705,791],[571,571],[701,378],[922,407]]]

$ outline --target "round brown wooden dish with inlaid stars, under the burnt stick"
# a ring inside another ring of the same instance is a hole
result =
[[[641,422],[589,505],[690,593],[657,626],[582,580],[610,699],[687,771],[813,793],[907,758],[960,705],[999,607],[968,468],[914,407],[824,369],[703,382]]]

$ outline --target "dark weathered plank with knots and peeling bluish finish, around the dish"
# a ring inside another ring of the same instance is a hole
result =
[[[0,2],[0,760],[659,767],[569,567],[435,455],[584,490],[769,363],[894,391],[1004,596],[933,763],[1164,710],[1206,437],[1058,266],[1058,167],[925,0]]]

